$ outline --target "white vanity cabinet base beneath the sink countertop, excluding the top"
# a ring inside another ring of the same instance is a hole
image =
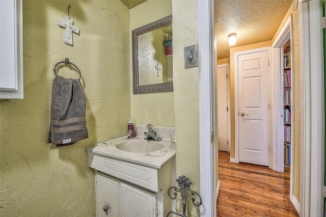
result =
[[[89,152],[89,166],[96,170],[97,216],[164,217],[172,210],[174,157],[157,169]],[[106,203],[110,212],[103,210]]]

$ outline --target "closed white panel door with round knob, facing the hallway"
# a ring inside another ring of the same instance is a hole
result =
[[[270,47],[234,54],[238,78],[239,161],[269,166],[268,58]],[[235,83],[236,84],[236,83]]]

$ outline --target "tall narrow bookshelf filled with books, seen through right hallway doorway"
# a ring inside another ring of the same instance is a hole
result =
[[[283,102],[284,102],[284,162],[291,162],[291,51],[290,41],[283,50]]]

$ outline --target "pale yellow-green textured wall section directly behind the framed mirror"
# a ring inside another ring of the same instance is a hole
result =
[[[174,4],[174,3],[173,3]],[[171,0],[148,0],[130,9],[130,38],[131,31],[143,25],[172,14]],[[172,17],[172,20],[174,17]],[[174,35],[174,33],[173,33]],[[131,45],[131,40],[130,40]],[[130,57],[132,54],[130,52]],[[174,63],[173,55],[173,63]],[[130,80],[132,87],[132,59],[130,58]],[[131,118],[136,125],[146,126],[152,123],[154,127],[174,127],[174,98],[173,92],[132,94]]]

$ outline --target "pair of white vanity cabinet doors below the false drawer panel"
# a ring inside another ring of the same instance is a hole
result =
[[[158,195],[160,194],[96,172],[96,213],[98,217],[158,216],[156,215],[159,214],[156,206]]]

